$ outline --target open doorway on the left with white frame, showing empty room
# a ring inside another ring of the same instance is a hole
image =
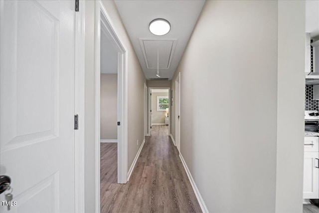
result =
[[[95,14],[95,196],[99,210],[105,186],[128,180],[127,49],[101,1],[96,2]]]

